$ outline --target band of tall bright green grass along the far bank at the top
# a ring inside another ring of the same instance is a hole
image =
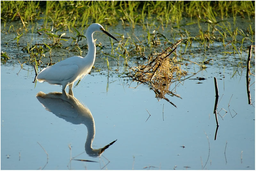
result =
[[[21,16],[18,15],[20,13]],[[44,16],[42,16],[43,14]],[[255,15],[252,1],[1,1],[1,19],[23,19],[25,24],[43,18],[47,27],[84,27],[92,22],[114,25],[121,18],[134,29],[138,23],[157,19],[165,25],[179,24],[182,17],[216,22],[230,14]],[[153,15],[156,16],[153,18]],[[235,22],[235,20],[234,20]]]

